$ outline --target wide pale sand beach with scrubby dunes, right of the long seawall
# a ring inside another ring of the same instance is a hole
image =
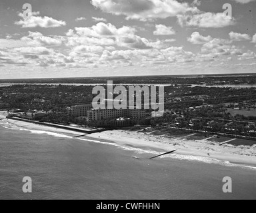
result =
[[[213,158],[237,164],[256,166],[256,146],[233,146],[231,144],[219,145],[217,142],[202,140],[187,140],[186,137],[166,138],[149,135],[145,132],[131,132],[127,130],[111,130],[107,132],[90,134],[90,137],[111,140],[119,144],[128,144],[135,147],[152,148],[168,152]],[[230,140],[227,138],[227,141]]]

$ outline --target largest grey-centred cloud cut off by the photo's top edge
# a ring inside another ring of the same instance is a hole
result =
[[[199,11],[189,3],[180,3],[176,0],[91,0],[91,3],[105,13],[125,15],[126,19],[141,21],[165,19],[189,11]]]

